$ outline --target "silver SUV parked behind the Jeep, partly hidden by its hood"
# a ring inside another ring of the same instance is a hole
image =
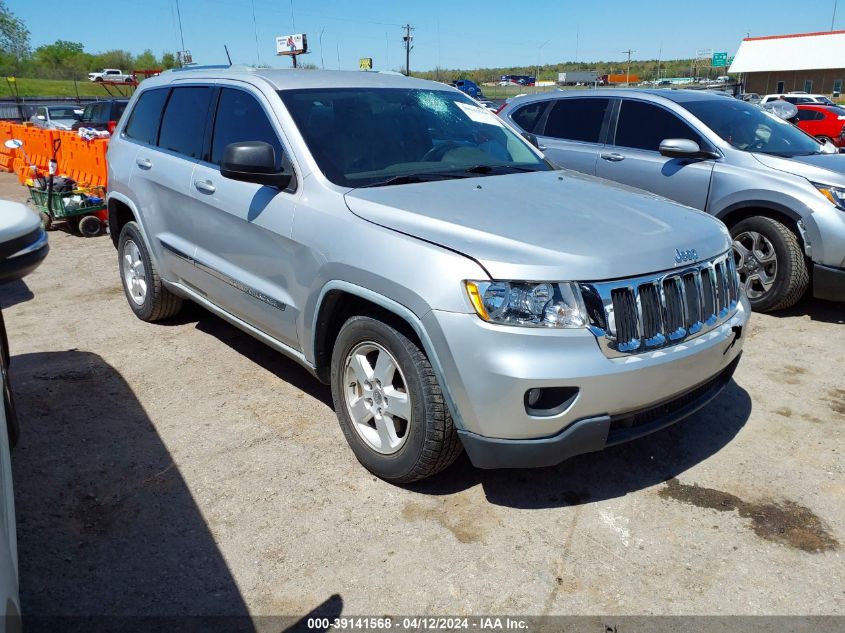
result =
[[[557,165],[707,211],[755,310],[845,300],[845,155],[757,106],[693,90],[532,95],[500,116]]]

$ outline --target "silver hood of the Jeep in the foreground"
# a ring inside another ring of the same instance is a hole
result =
[[[701,260],[730,246],[705,213],[568,171],[354,189],[346,204],[475,259],[494,279],[602,281],[672,269],[676,249]]]

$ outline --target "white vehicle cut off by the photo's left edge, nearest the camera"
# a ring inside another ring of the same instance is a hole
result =
[[[30,209],[17,202],[0,201],[0,284],[20,279],[32,272],[46,257],[47,234]],[[9,388],[9,342],[0,311],[0,601],[5,610],[0,618],[4,631],[20,630],[18,597],[18,539],[15,498],[12,488],[11,447],[18,440],[19,426]],[[17,626],[16,626],[17,625]]]

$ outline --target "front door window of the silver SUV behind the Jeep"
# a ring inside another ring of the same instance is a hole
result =
[[[616,145],[658,151],[668,138],[684,138],[704,145],[701,136],[677,116],[651,103],[623,99],[616,125]]]

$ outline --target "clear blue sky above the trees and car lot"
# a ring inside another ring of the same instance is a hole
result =
[[[56,39],[98,52],[124,48],[156,54],[179,47],[175,0],[7,0],[27,24],[33,47]],[[253,5],[255,22],[253,22]],[[73,7],[80,17],[73,17]],[[376,69],[404,66],[401,25],[415,27],[411,67],[429,70],[535,65],[576,59],[691,57],[699,49],[736,52],[752,36],[830,29],[834,0],[734,2],[567,2],[530,0],[179,0],[185,47],[201,64],[288,66],[275,56],[275,36],[307,33],[305,61],[356,69],[372,57]],[[66,16],[65,19],[57,19]],[[114,28],[110,28],[110,27]],[[845,2],[837,29],[845,28]],[[322,31],[322,38],[320,37]],[[256,42],[257,39],[257,42]],[[321,46],[322,40],[322,46]]]

